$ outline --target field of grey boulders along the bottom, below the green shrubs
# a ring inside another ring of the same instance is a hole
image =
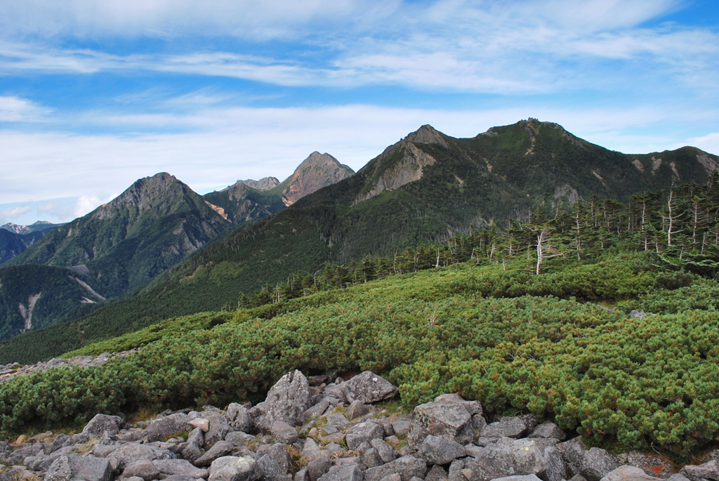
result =
[[[719,452],[685,466],[587,447],[533,416],[487,423],[477,401],[441,395],[413,413],[366,371],[290,372],[257,406],[166,411],[128,425],[96,415],[80,434],[0,441],[0,481],[719,481]]]

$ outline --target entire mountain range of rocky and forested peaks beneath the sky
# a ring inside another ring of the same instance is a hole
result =
[[[124,296],[0,349],[12,353],[32,339],[47,356],[60,354],[172,316],[237,306],[243,293],[327,262],[391,256],[470,226],[503,228],[531,209],[551,217],[580,198],[626,202],[675,182],[705,183],[717,168],[719,157],[694,147],[623,154],[528,119],[468,139],[423,126],[354,175],[317,152],[283,183],[238,181],[206,196],[158,174],[8,262],[84,266],[98,293]]]

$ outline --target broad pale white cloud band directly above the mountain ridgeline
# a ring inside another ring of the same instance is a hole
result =
[[[88,122],[155,132],[168,125],[184,126],[188,132],[129,137],[0,131],[4,162],[13,166],[0,171],[0,204],[29,198],[73,198],[72,203],[48,208],[48,212],[63,211],[67,221],[106,202],[137,178],[158,172],[172,173],[205,193],[239,178],[285,178],[314,150],[329,152],[358,170],[421,124],[432,124],[454,137],[474,137],[489,127],[527,116],[559,122],[570,132],[613,150],[637,153],[687,142],[664,132],[640,136],[633,129],[648,129],[654,125],[651,122],[661,124],[667,119],[697,119],[694,112],[677,114],[672,106],[574,111],[529,104],[472,111],[352,105],[214,107],[191,114],[147,116],[95,112]],[[145,128],[137,127],[142,125]]]

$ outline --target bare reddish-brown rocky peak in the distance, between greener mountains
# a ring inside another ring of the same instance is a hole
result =
[[[343,165],[331,155],[312,152],[281,184],[282,201],[285,206],[319,189],[338,183],[354,174],[354,170]]]

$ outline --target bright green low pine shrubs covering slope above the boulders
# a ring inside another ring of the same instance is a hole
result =
[[[677,289],[667,283],[677,274],[659,265],[651,251],[620,249],[554,259],[539,276],[523,259],[469,262],[283,301],[277,315],[263,306],[167,321],[85,350],[144,346],[127,359],[3,383],[0,429],[256,401],[288,370],[335,367],[385,375],[408,406],[456,392],[489,413],[535,413],[594,442],[687,455],[719,435],[719,317],[715,305],[682,300],[718,298],[719,287],[684,275]],[[626,315],[641,306],[654,310]]]

